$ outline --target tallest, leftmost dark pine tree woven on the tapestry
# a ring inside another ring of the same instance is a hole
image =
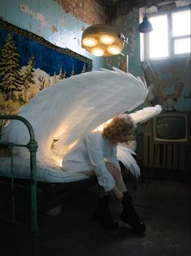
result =
[[[9,34],[0,53],[0,90],[7,100],[14,100],[14,92],[21,91],[23,84],[19,68],[19,53]]]

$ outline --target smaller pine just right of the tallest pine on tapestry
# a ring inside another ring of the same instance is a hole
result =
[[[30,84],[34,84],[34,78],[35,78],[35,58],[32,56],[28,60],[28,66],[26,66],[24,72],[23,72],[23,99],[27,101],[27,93],[28,88],[30,87]]]

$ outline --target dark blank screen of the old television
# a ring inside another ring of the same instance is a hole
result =
[[[186,119],[185,117],[158,117],[156,119],[156,138],[164,140],[185,139]]]

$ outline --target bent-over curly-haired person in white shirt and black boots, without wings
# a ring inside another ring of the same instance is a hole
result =
[[[83,143],[67,153],[62,161],[62,168],[65,171],[78,169],[88,176],[96,175],[99,185],[104,188],[104,196],[100,198],[93,214],[94,220],[100,221],[107,228],[118,227],[108,208],[109,192],[113,190],[123,205],[121,221],[138,232],[144,232],[146,224],[134,209],[117,160],[117,143],[128,141],[129,135],[134,132],[134,126],[133,119],[128,114],[114,117],[111,122],[104,124],[102,130],[94,130],[83,139]]]

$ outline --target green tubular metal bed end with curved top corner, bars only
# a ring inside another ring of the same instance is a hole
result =
[[[15,115],[0,115],[0,119],[2,120],[19,120],[23,122],[25,126],[28,128],[28,132],[30,135],[30,140],[28,144],[16,144],[16,143],[0,143],[1,147],[9,148],[11,152],[11,201],[12,201],[12,220],[14,224],[18,224],[15,217],[15,183],[13,177],[13,148],[14,147],[26,147],[28,151],[30,151],[30,172],[31,172],[31,216],[32,216],[32,255],[37,255],[37,247],[38,247],[38,237],[39,237],[39,225],[37,220],[37,191],[36,191],[36,151],[37,151],[37,143],[35,140],[34,130],[32,125],[23,117],[15,116]],[[0,217],[2,217],[0,215]],[[5,219],[5,218],[3,218]]]

